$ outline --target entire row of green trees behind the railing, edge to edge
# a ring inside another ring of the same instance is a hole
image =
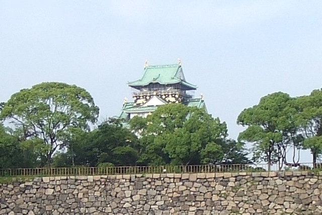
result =
[[[322,153],[322,92],[290,97],[276,92],[245,109],[238,140],[204,110],[168,104],[128,124],[97,124],[99,108],[85,89],[44,82],[22,89],[0,105],[0,168],[248,164],[296,166],[309,149]],[[90,128],[96,125],[96,129]],[[246,149],[245,143],[252,143]],[[293,160],[287,161],[289,149]],[[252,153],[252,159],[249,159]]]

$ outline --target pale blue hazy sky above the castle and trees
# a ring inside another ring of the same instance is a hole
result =
[[[100,119],[120,114],[127,81],[177,63],[207,109],[238,114],[272,92],[322,85],[322,1],[0,1],[0,101],[43,81],[86,88]],[[309,158],[310,160],[310,158]]]

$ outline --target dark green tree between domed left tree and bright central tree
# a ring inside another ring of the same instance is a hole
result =
[[[138,160],[137,138],[119,119],[110,118],[92,132],[75,135],[71,143],[67,154],[73,155],[75,165],[132,166]]]

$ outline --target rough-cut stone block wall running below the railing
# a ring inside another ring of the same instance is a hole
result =
[[[0,184],[0,214],[322,214],[308,172],[43,177]]]

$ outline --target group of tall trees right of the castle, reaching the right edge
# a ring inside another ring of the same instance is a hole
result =
[[[269,94],[241,112],[237,123],[247,127],[238,140],[253,144],[254,161],[296,167],[300,150],[309,150],[315,167],[322,153],[322,91],[298,97]],[[291,161],[286,160],[289,151],[293,151]]]

